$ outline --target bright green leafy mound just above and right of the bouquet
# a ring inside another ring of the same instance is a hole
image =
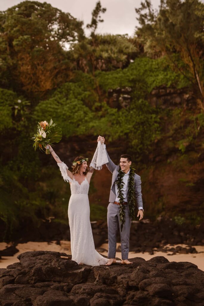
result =
[[[83,90],[81,83],[65,83],[52,98],[41,101],[35,108],[34,119],[46,120],[52,116],[64,136],[86,134],[93,114],[85,106],[91,92]],[[85,101],[85,103],[83,103]]]

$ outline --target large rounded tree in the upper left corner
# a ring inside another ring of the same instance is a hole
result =
[[[27,92],[52,89],[69,78],[63,48],[80,41],[82,22],[50,4],[24,1],[0,13],[1,85]]]

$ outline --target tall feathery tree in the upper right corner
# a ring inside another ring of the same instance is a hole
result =
[[[157,12],[145,0],[136,13],[140,24],[136,34],[144,43],[144,50],[150,55],[166,54],[191,81],[204,110],[204,4],[199,0],[161,0]]]

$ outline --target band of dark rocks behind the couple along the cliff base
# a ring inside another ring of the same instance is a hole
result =
[[[107,222],[95,221],[91,222],[92,233],[95,248],[99,248],[103,243],[107,243]],[[22,234],[21,238],[13,241],[13,245],[0,251],[1,256],[13,256],[18,250],[18,243],[26,243],[28,241],[56,241],[60,244],[60,240],[70,241],[70,230],[68,224],[56,222],[44,222],[35,231],[27,231],[26,235]],[[118,235],[117,242],[120,242]],[[172,247],[166,247],[167,244]],[[173,247],[175,244],[185,244],[187,247]],[[192,246],[204,245],[204,223],[199,226],[178,225],[172,219],[158,219],[151,222],[148,219],[142,221],[133,221],[130,230],[130,252],[148,252],[155,254],[157,251],[172,252],[172,254],[188,254],[197,253]],[[100,252],[103,252],[100,250]],[[117,249],[120,252],[120,248]]]

